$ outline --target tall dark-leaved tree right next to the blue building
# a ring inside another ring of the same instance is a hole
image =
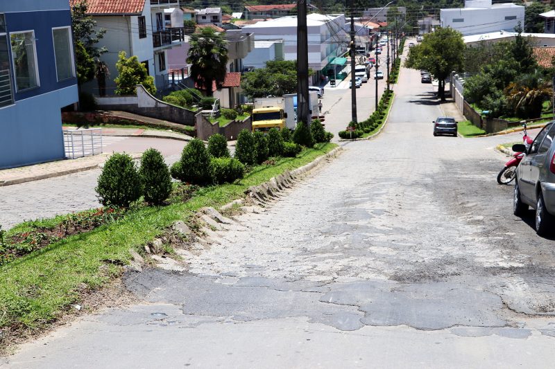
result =
[[[108,52],[105,47],[97,46],[106,30],[96,28],[96,21],[87,15],[86,0],[79,1],[71,7],[71,27],[74,31],[77,80],[79,84],[83,84],[94,78],[94,59]]]

